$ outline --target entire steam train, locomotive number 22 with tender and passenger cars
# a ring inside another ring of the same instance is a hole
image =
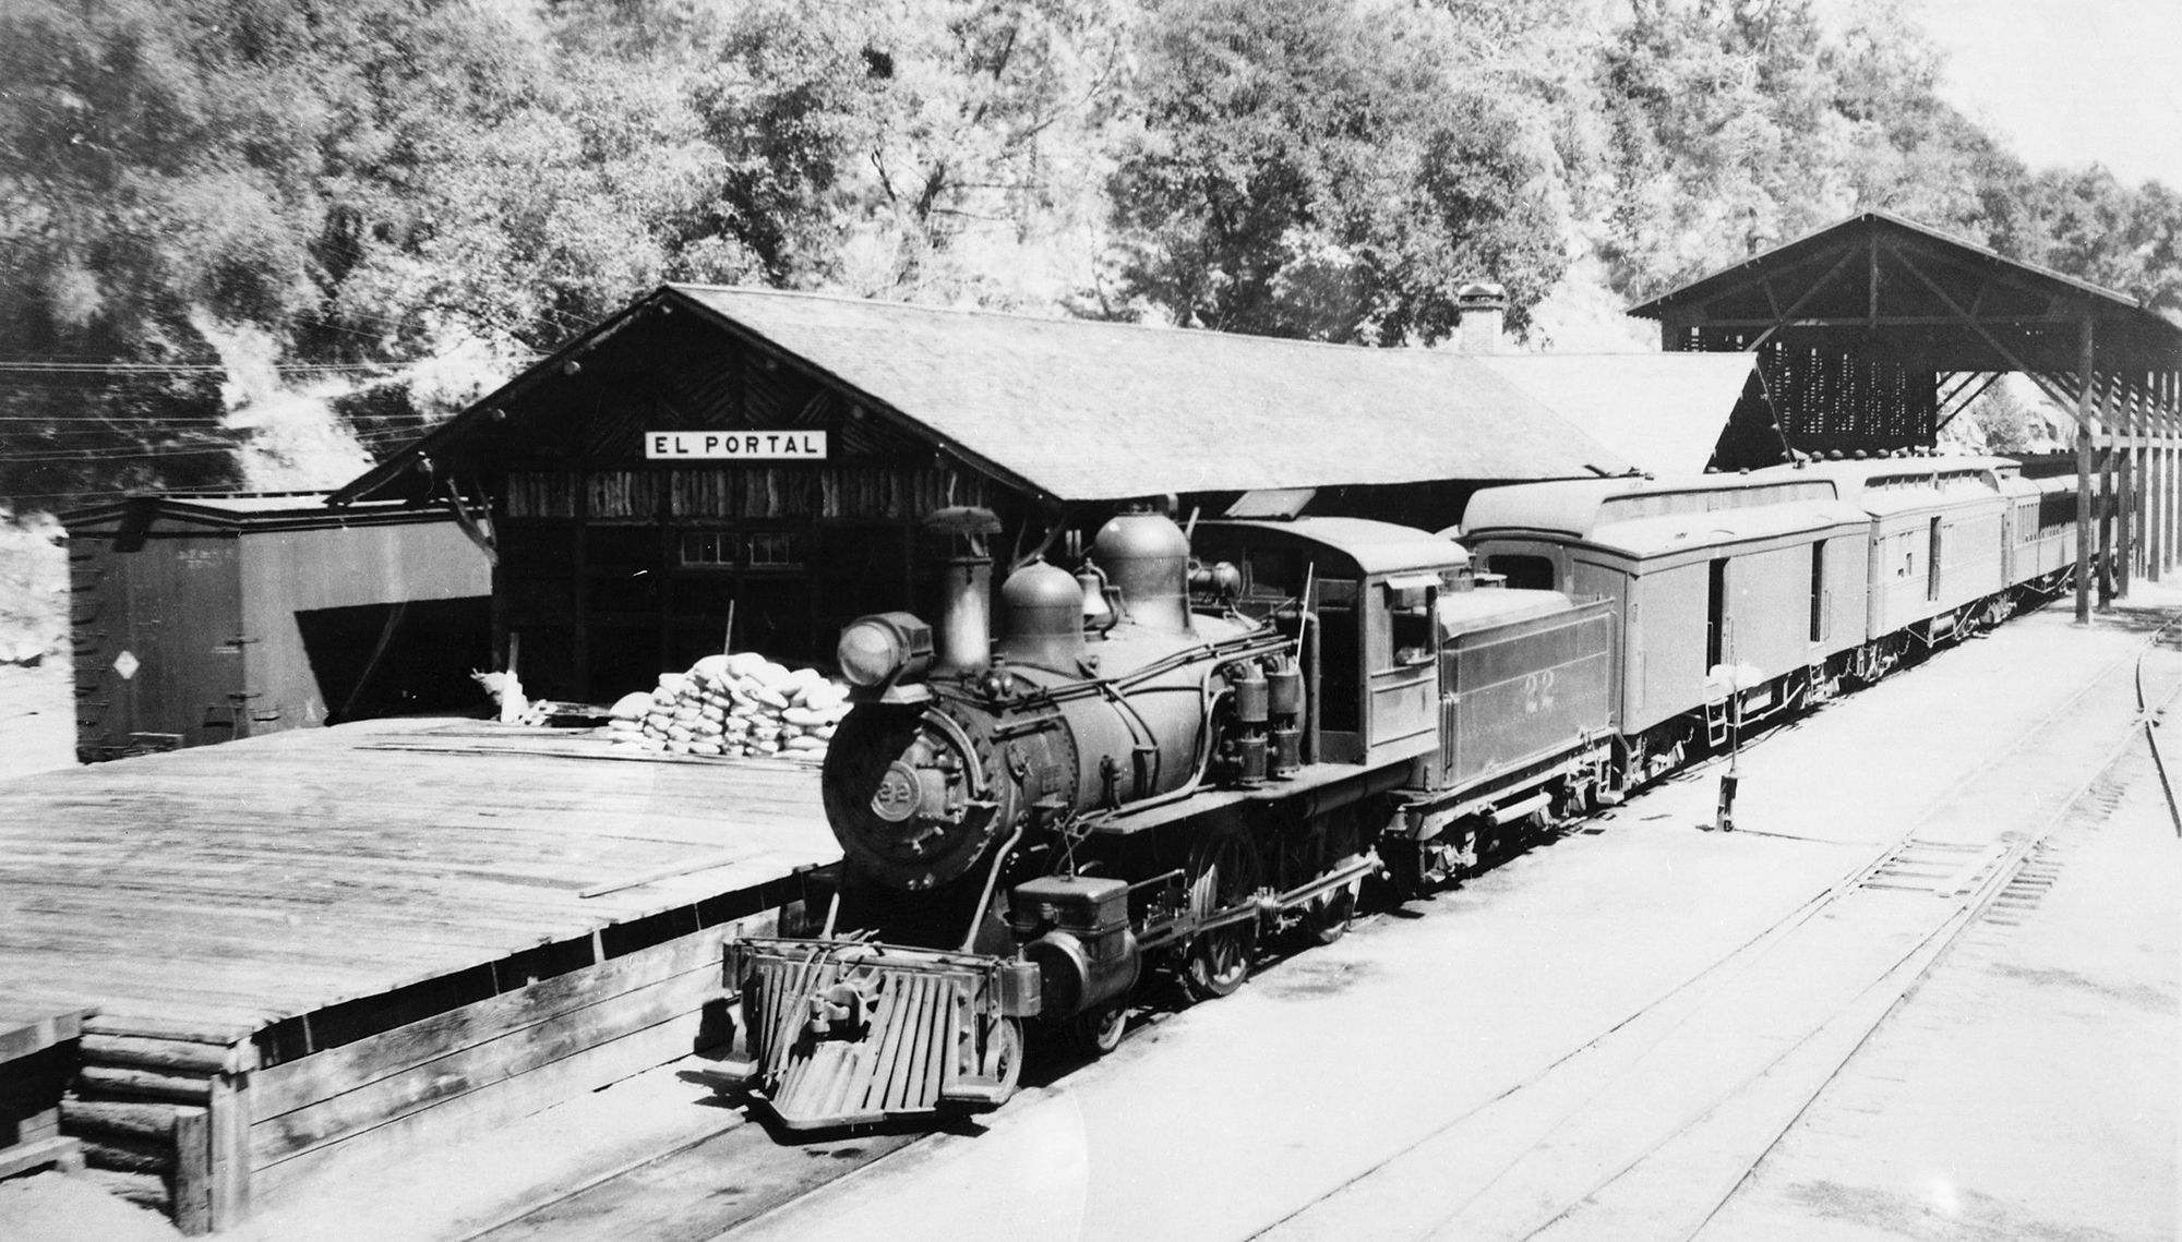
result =
[[[995,1107],[1026,1026],[1111,1050],[1150,963],[1224,996],[1261,935],[1340,937],[1368,874],[1420,891],[2064,586],[2073,506],[1997,460],[1883,460],[1492,488],[1473,551],[1124,512],[997,610],[997,523],[936,514],[936,623],[842,632],[844,859],[729,946],[722,1076],[790,1129]]]

